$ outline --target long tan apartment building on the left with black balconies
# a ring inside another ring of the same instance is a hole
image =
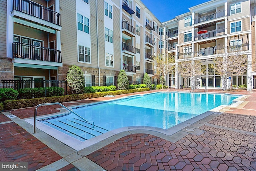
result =
[[[66,80],[70,65],[82,69],[86,86],[116,85],[120,70],[130,84],[142,84],[145,72],[158,81],[153,56],[160,53],[161,22],[140,0],[0,4],[1,84],[17,80],[20,88],[56,86],[44,81]]]

